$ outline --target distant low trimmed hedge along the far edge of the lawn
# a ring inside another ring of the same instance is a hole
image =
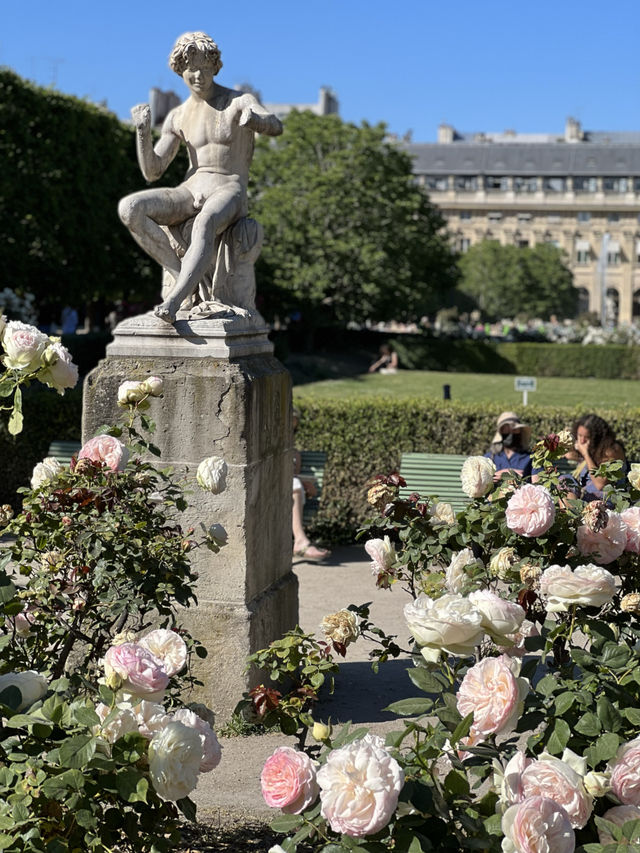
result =
[[[624,344],[491,343],[419,335],[392,343],[402,367],[413,370],[640,379],[640,347]]]

